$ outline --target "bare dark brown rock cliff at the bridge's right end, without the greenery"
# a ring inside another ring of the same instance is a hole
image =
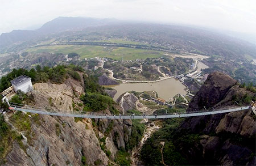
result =
[[[243,96],[255,96],[230,76],[215,72],[189,103],[188,112],[236,107]],[[236,97],[234,97],[236,96]],[[181,143],[181,154],[190,164],[255,165],[255,114],[251,110],[187,118],[179,131],[199,135],[200,141]]]

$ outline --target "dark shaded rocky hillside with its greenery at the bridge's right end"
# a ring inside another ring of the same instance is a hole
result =
[[[203,106],[236,107],[236,103],[247,105],[255,99],[255,90],[248,91],[230,76],[216,72],[208,76],[187,111]],[[144,144],[141,159],[146,165],[162,164],[162,156],[167,165],[255,165],[255,117],[251,110],[245,110],[185,118],[179,125],[166,120]]]

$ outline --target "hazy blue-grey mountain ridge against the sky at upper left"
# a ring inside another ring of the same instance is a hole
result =
[[[106,25],[118,22],[115,19],[96,19],[96,18],[73,18],[59,17],[43,24],[43,26],[35,31],[14,30],[10,33],[2,33],[0,35],[0,46],[8,46],[19,41],[27,41],[41,35],[62,31],[81,30],[86,27],[98,25]]]

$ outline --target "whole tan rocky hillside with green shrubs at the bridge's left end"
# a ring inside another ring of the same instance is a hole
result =
[[[78,69],[76,66],[56,66],[49,71],[39,67],[36,71],[15,70],[5,79],[11,79],[15,74],[32,76],[32,71],[38,77],[34,75],[32,78],[34,91],[27,94],[19,92],[11,101],[46,109],[118,114],[120,108],[104,92],[104,88],[97,84],[93,76]],[[42,73],[48,79],[40,79]],[[52,74],[59,75],[57,80],[51,77]],[[7,112],[0,116],[0,164],[129,164],[130,154],[127,151],[137,145],[143,126],[139,121],[131,120]]]

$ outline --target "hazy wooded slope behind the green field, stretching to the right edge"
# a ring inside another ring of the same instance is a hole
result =
[[[92,36],[93,33],[96,33],[97,36]],[[255,57],[255,45],[253,44],[220,33],[177,25],[123,23],[94,28],[88,27],[63,39],[102,40],[104,42],[109,38],[141,42],[144,45],[149,44],[151,48],[155,46],[172,52],[189,52],[224,57],[239,57],[241,54],[248,54]]]

